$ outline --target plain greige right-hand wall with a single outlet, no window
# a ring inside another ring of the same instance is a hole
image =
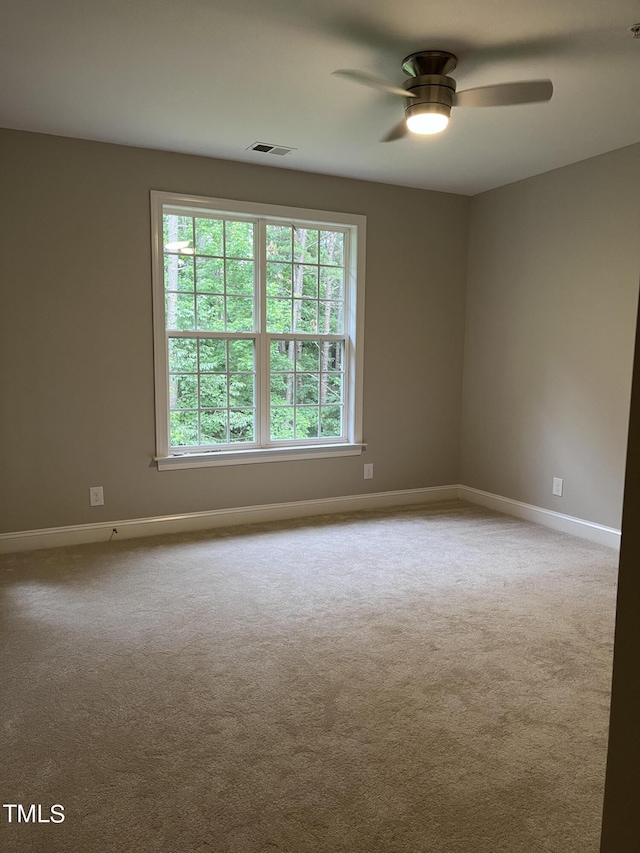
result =
[[[472,199],[465,485],[620,527],[639,190],[635,145]]]

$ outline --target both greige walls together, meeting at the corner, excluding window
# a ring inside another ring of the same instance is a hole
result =
[[[158,473],[150,189],[367,216],[366,457]],[[639,189],[640,145],[468,199],[0,131],[0,532],[457,482],[618,527]]]

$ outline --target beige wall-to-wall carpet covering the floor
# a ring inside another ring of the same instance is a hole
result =
[[[458,501],[2,557],[0,794],[65,820],[0,849],[596,853],[616,567]]]

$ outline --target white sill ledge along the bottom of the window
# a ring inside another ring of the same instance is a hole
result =
[[[184,468],[211,468],[218,465],[250,465],[256,462],[292,462],[301,459],[328,459],[359,456],[366,444],[317,444],[310,447],[269,447],[252,450],[221,450],[211,453],[183,453],[156,456],[158,471]]]

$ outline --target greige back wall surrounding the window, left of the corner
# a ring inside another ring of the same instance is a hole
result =
[[[15,131],[0,170],[0,532],[458,481],[469,199]],[[151,189],[367,216],[366,456],[151,465]]]

